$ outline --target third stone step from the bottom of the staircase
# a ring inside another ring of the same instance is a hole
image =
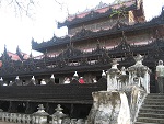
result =
[[[156,109],[143,109],[141,108],[139,113],[156,113],[156,114],[164,114],[164,110],[156,110]]]

